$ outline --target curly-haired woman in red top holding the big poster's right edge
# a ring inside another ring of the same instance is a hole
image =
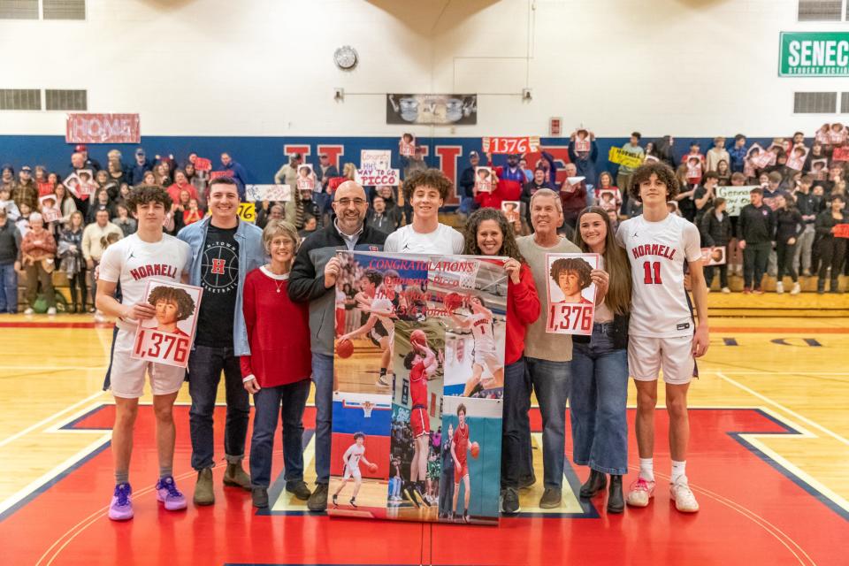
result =
[[[505,488],[501,511],[519,510],[518,470],[522,467],[523,431],[530,437],[531,388],[524,373],[524,333],[539,317],[539,296],[531,268],[516,245],[516,237],[501,210],[479,209],[466,221],[463,253],[502,256],[509,276],[507,333],[504,345],[504,416],[501,435],[501,485]]]

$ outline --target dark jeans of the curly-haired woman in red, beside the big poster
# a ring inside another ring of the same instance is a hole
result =
[[[504,412],[501,417],[501,486],[518,487],[519,474],[526,472],[526,447],[530,439],[531,381],[524,358],[504,368]]]

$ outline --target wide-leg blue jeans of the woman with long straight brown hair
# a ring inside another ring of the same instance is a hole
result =
[[[596,471],[628,473],[628,350],[614,349],[611,325],[593,325],[572,350],[572,459]]]

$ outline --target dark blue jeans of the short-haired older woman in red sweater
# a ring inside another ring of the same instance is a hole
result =
[[[254,394],[254,433],[250,438],[250,480],[268,487],[272,478],[277,415],[283,420],[283,464],[287,482],[303,481],[303,409],[310,396],[310,380],[285,386],[263,387]]]

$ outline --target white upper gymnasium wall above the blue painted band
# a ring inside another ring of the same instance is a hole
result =
[[[88,0],[78,22],[0,20],[0,88],[86,88],[144,135],[395,135],[386,92],[478,92],[478,125],[417,134],[599,136],[814,131],[779,79],[795,0]],[[333,50],[350,44],[345,73]],[[346,91],[333,100],[333,88]],[[532,100],[521,89],[532,88]],[[64,112],[0,113],[0,134],[62,134]]]

